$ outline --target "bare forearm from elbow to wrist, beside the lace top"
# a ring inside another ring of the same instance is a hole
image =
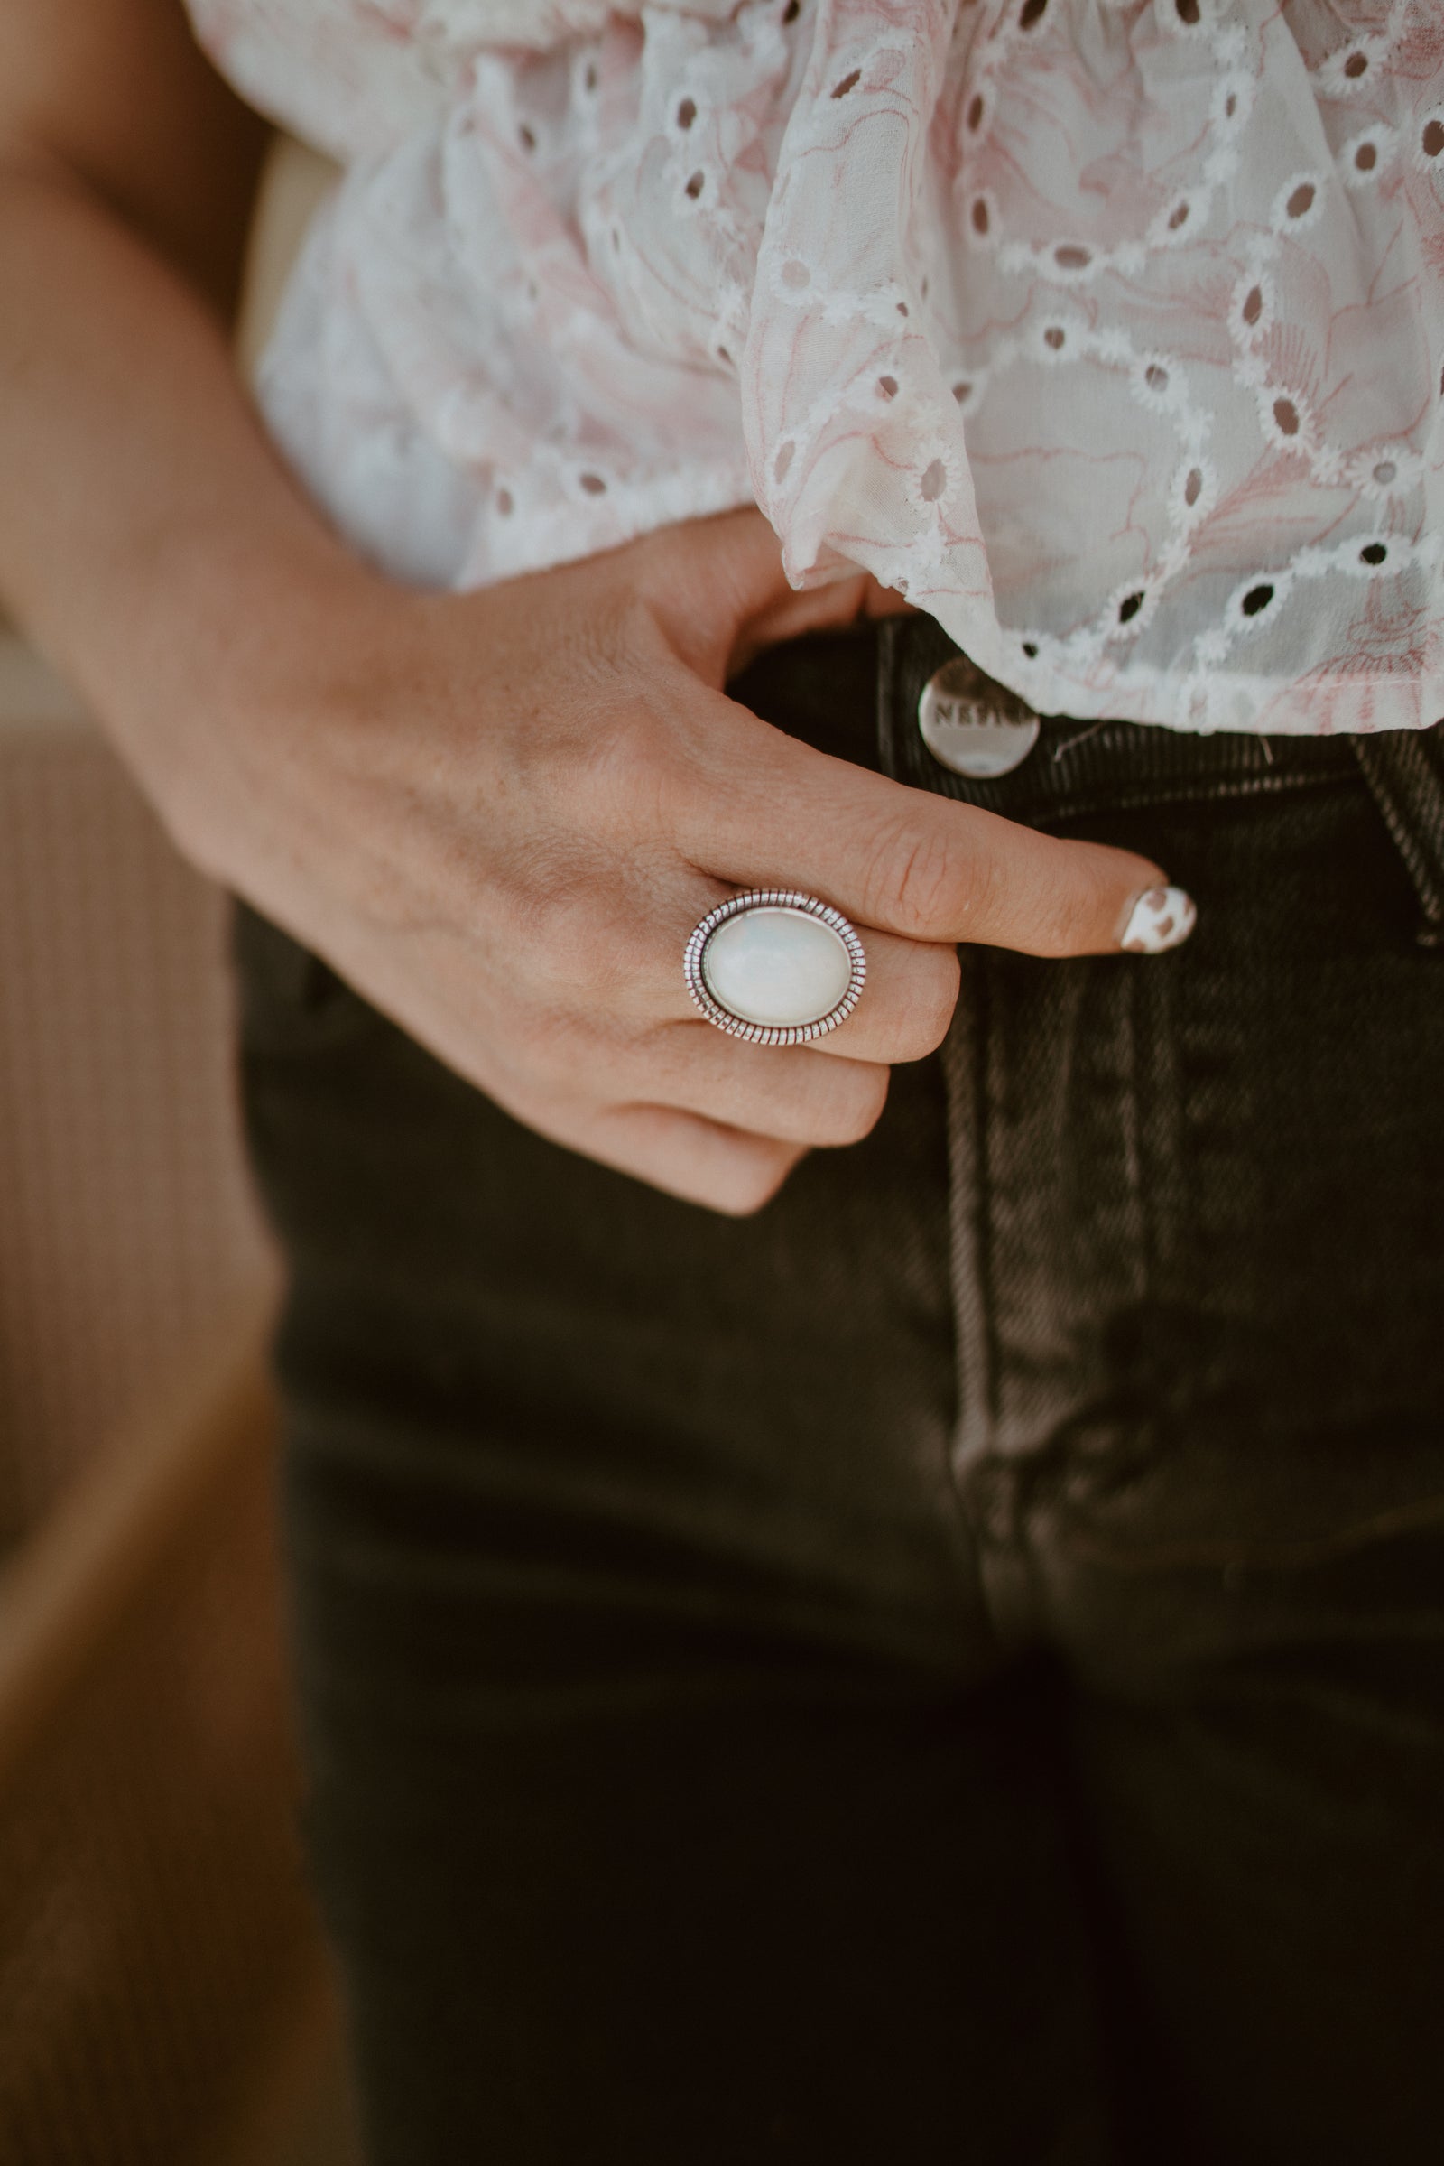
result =
[[[2,173],[0,600],[173,827],[216,684],[260,695],[355,585],[206,301],[82,184]]]

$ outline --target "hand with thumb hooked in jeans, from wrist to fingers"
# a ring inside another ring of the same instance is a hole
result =
[[[862,576],[792,593],[758,513],[474,596],[357,589],[260,715],[251,687],[212,717],[182,843],[517,1120],[717,1211],[872,1128],[892,1061],[946,1033],[955,942],[1117,949],[1163,879],[727,700],[760,648],[898,606]],[[864,1001],[814,1044],[745,1044],[686,996],[688,931],[753,886],[864,938]]]

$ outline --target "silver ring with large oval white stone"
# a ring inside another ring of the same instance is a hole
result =
[[[801,1046],[857,1007],[868,957],[840,910],[795,888],[749,888],[708,910],[682,957],[686,990],[719,1031]]]

